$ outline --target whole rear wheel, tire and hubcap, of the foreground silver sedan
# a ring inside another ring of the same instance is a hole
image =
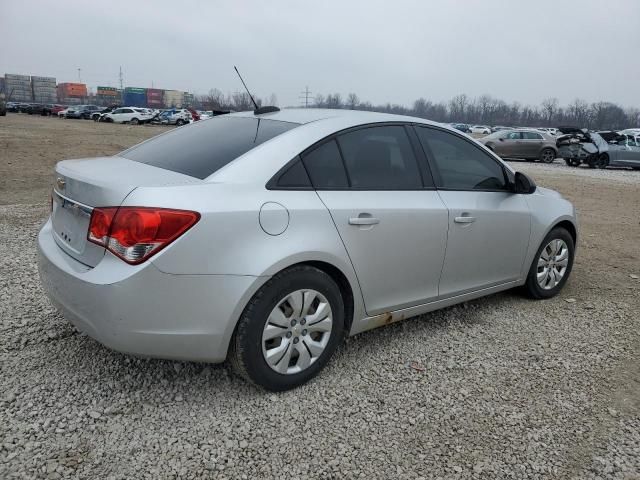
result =
[[[252,383],[289,390],[316,376],[343,337],[340,288],[322,270],[300,265],[275,275],[251,299],[229,360]]]

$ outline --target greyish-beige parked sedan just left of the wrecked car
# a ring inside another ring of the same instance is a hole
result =
[[[551,163],[558,153],[555,139],[534,129],[504,130],[478,141],[504,158]]]

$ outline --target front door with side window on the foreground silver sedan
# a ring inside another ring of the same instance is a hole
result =
[[[440,298],[520,279],[531,215],[524,196],[510,191],[505,167],[460,135],[415,129],[449,210]]]

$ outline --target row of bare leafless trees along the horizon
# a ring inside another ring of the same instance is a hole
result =
[[[262,99],[255,97],[258,105],[277,105],[275,94]],[[253,104],[246,92],[223,94],[212,89],[196,98],[199,108],[208,110],[252,110]],[[410,107],[399,104],[374,105],[361,101],[357,94],[340,93],[316,95],[313,104],[317,108],[343,108],[372,112],[394,113],[426,118],[435,122],[467,123],[482,125],[506,125],[522,127],[557,127],[571,125],[593,130],[621,130],[640,125],[640,109],[623,108],[612,102],[593,102],[576,98],[568,105],[561,105],[557,98],[547,98],[540,105],[507,103],[491,95],[469,97],[460,94],[448,102],[433,102],[419,98]]]

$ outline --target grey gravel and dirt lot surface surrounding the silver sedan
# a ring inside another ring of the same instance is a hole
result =
[[[77,156],[75,129],[98,126],[48,121],[0,123],[33,139],[0,150],[3,181],[24,185],[0,202],[0,478],[640,479],[639,172],[514,162],[580,210],[560,296],[505,292],[358,335],[271,394],[225,365],[112,352],[50,306],[34,241],[56,158],[39,139]],[[126,146],[129,127],[109,127],[95,154]],[[18,150],[33,181],[8,165]]]

